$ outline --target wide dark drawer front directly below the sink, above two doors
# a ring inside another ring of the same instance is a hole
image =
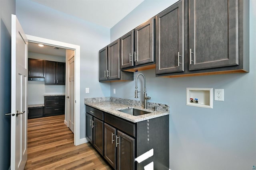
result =
[[[136,135],[134,123],[130,123],[124,119],[110,115],[108,113],[105,113],[105,122],[116,127],[117,129],[124,131],[129,135],[132,135],[133,137]]]

